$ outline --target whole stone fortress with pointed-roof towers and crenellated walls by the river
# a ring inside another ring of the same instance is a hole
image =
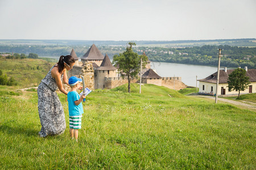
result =
[[[118,71],[118,65],[112,65],[108,54],[105,57],[101,54],[96,45],[92,45],[90,49],[80,59],[77,57],[75,50],[72,49],[71,56],[76,60],[73,69],[68,71],[68,78],[84,76],[86,87],[91,90],[98,88],[111,89],[128,83],[127,78],[122,78]],[[131,83],[139,83],[138,79],[131,80]],[[147,61],[146,69],[142,71],[142,83],[155,84],[157,86],[165,86],[170,89],[180,90],[187,86],[181,82],[180,77],[161,77],[156,71],[151,69],[150,61]]]

